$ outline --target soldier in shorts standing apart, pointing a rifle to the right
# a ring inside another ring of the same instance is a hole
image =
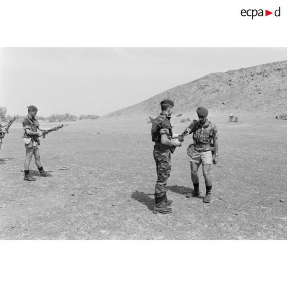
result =
[[[23,128],[25,130],[25,134],[23,136],[24,142],[25,142],[25,148],[26,148],[26,159],[24,164],[24,180],[33,182],[36,180],[36,178],[32,177],[30,175],[30,162],[34,155],[35,157],[35,164],[37,165],[40,176],[51,176],[48,172],[44,171],[42,164],[40,162],[40,152],[39,152],[39,138],[43,134],[41,131],[47,131],[50,129],[43,129],[41,128],[41,125],[37,119],[35,119],[35,116],[38,112],[37,107],[34,105],[28,106],[28,116],[23,120]],[[40,132],[37,132],[37,130],[40,130]]]

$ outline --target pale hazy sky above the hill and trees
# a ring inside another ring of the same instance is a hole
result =
[[[209,73],[287,60],[287,48],[0,48],[0,105],[104,115]]]

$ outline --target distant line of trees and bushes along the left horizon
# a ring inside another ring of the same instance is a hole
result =
[[[51,115],[49,117],[41,117],[37,116],[38,120],[45,120],[49,122],[61,122],[61,121],[75,121],[75,120],[82,120],[82,119],[97,119],[100,116],[97,115],[80,115],[77,117],[76,115],[71,115],[69,113],[63,114],[63,115]],[[0,120],[1,121],[9,121],[13,119],[13,116],[7,115],[7,109],[4,106],[0,106]],[[17,116],[16,121],[23,121],[23,119],[26,118],[26,116]]]

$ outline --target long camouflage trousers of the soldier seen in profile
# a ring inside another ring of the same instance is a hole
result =
[[[167,181],[171,170],[170,149],[162,146],[154,146],[153,157],[156,164],[157,180],[155,185],[155,196],[162,196],[167,193]]]

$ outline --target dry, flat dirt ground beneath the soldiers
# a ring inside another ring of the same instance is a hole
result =
[[[23,131],[14,123],[0,151],[0,238],[286,240],[287,121],[241,115],[229,123],[228,115],[210,116],[220,156],[211,167],[213,201],[186,198],[192,191],[188,136],[172,157],[171,214],[152,212],[156,171],[145,118],[69,122],[41,139],[41,161],[52,177],[40,178],[32,160],[35,182],[23,180]],[[188,125],[171,121],[174,132]],[[202,168],[199,173],[204,191]]]

